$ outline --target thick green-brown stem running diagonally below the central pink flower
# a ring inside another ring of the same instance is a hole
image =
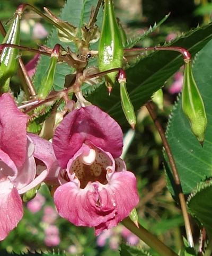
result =
[[[152,233],[148,232],[147,229],[139,225],[139,228],[132,222],[132,220],[127,217],[121,222],[125,227],[127,227],[131,232],[136,234],[139,239],[143,240],[149,247],[155,250],[157,253],[163,256],[176,256],[174,251],[167,247],[164,243],[157,239]]]

